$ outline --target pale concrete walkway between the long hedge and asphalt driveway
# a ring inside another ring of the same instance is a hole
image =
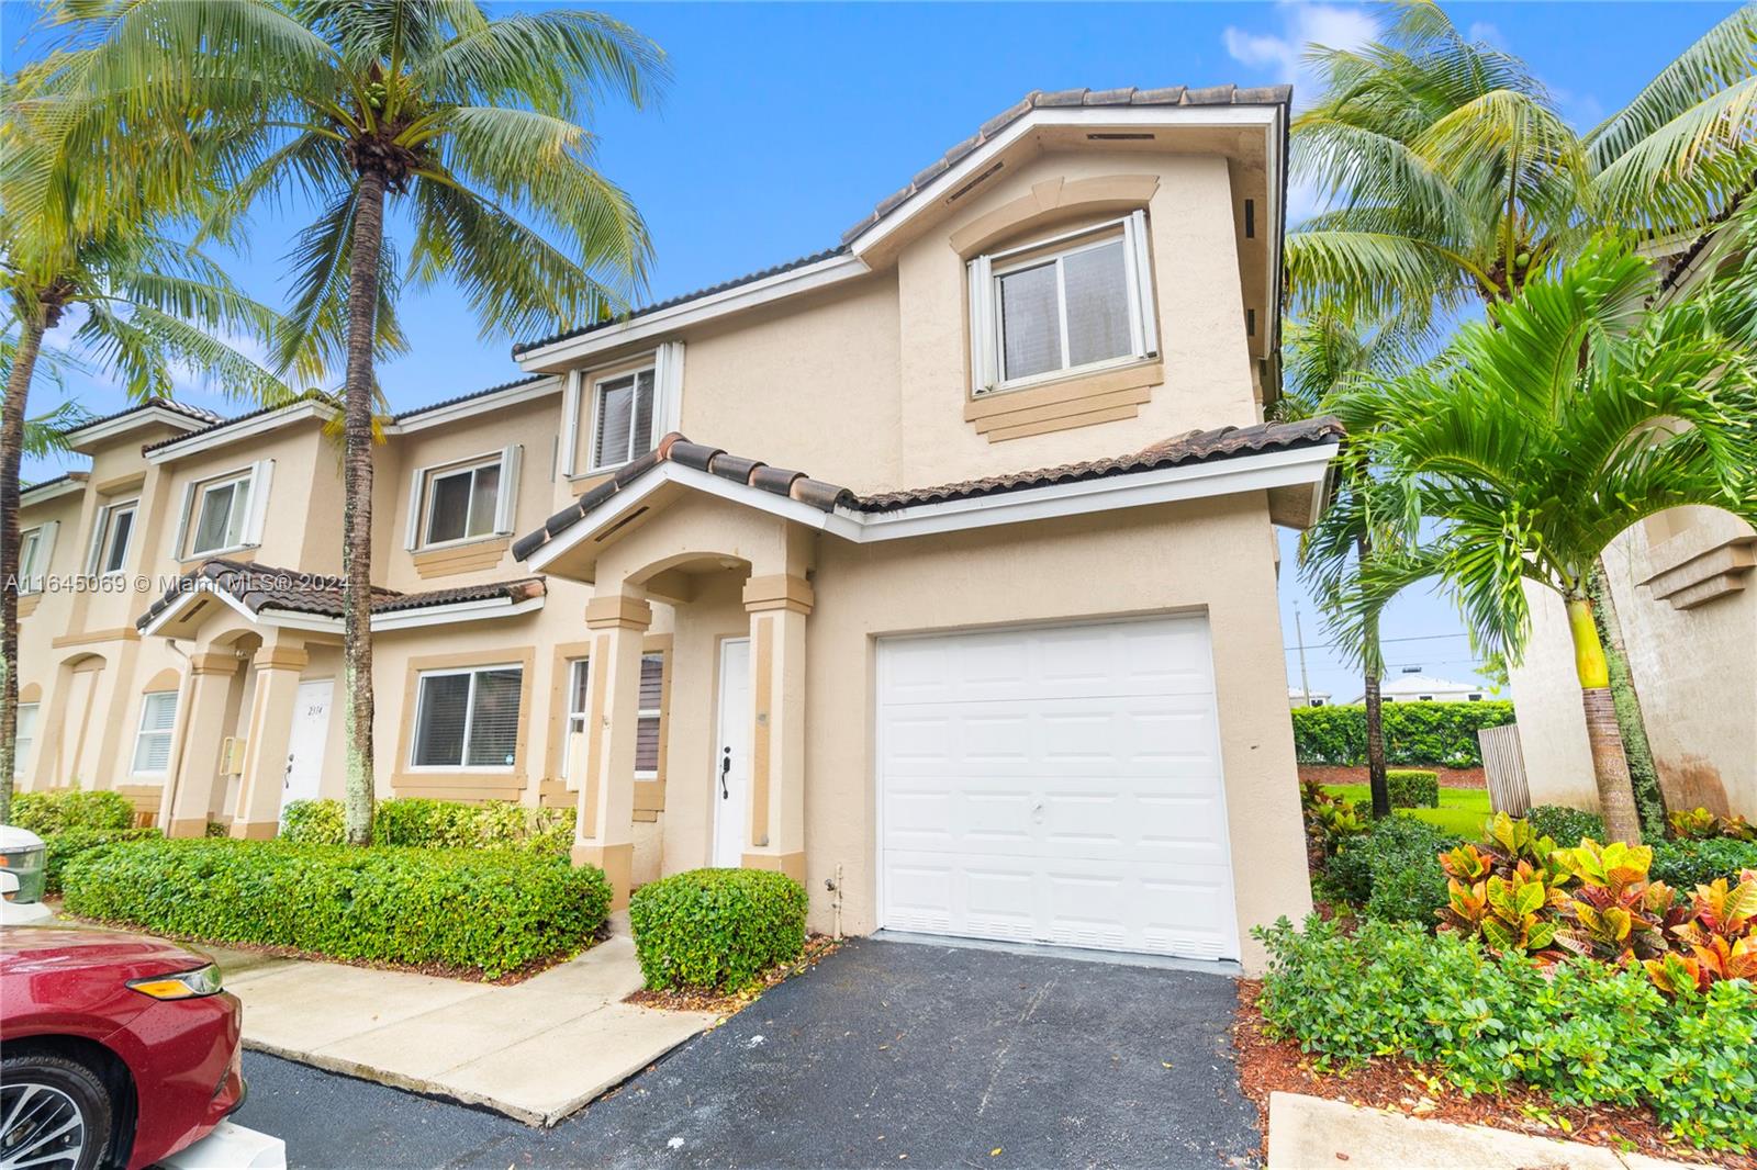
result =
[[[244,1001],[244,1047],[550,1126],[715,1021],[622,1003],[641,973],[627,915],[611,922],[606,942],[513,987],[202,950]]]

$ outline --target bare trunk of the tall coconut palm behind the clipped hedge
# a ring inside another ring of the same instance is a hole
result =
[[[350,845],[372,843],[372,341],[385,176],[360,176],[348,256],[348,381],[343,401],[343,685],[348,692]]]

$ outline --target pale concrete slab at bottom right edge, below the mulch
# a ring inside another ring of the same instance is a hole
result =
[[[1298,1093],[1269,1094],[1269,1170],[1694,1170],[1699,1163],[1460,1126]],[[1701,1170],[1710,1170],[1703,1166]]]

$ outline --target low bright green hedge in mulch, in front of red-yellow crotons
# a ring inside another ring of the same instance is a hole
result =
[[[1311,919],[1258,929],[1270,950],[1260,1007],[1321,1065],[1377,1056],[1428,1065],[1465,1093],[1513,1080],[1564,1105],[1652,1105],[1687,1142],[1757,1145],[1757,987],[1718,982],[1667,998],[1639,968],[1567,959],[1544,968],[1474,940]]]

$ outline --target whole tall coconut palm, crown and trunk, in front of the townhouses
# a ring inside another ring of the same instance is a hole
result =
[[[372,833],[371,499],[374,341],[394,293],[387,206],[408,225],[404,276],[453,279],[483,334],[599,320],[648,256],[627,195],[580,125],[601,97],[641,105],[662,53],[610,18],[490,18],[471,0],[67,0],[95,47],[88,91],[118,118],[218,128],[232,197],[316,207],[293,251],[290,316],[339,325],[344,379],[343,661],[348,840]]]

